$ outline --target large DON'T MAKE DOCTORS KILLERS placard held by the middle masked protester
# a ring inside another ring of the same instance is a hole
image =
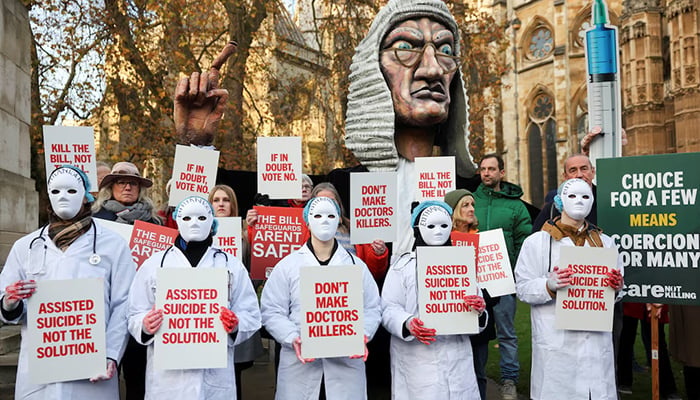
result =
[[[346,357],[365,353],[362,268],[302,267],[301,355]]]

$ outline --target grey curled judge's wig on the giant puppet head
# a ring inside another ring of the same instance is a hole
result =
[[[421,17],[439,21],[451,30],[455,36],[455,54],[459,54],[459,29],[445,3],[390,0],[374,18],[352,58],[345,145],[370,171],[395,171],[399,162],[394,144],[394,104],[379,65],[381,43],[396,24]],[[459,70],[450,91],[449,117],[440,127],[444,137],[438,140],[443,155],[455,156],[457,174],[470,178],[475,175],[476,166],[469,153],[469,103]]]

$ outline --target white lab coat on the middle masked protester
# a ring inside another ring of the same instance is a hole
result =
[[[351,256],[342,246],[338,246],[328,266],[332,268],[334,265],[353,264],[362,268],[364,331],[367,338],[371,340],[381,322],[381,306],[377,284],[367,265],[358,257]],[[328,400],[366,399],[365,364],[361,358],[324,358],[302,364],[294,352],[292,342],[301,336],[299,269],[319,265],[306,244],[277,263],[263,289],[261,299],[263,324],[275,340],[282,344],[275,398],[317,400],[321,389],[321,377],[323,377]]]

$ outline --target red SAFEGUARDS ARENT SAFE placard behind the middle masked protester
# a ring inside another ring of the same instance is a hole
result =
[[[304,210],[289,207],[254,206],[258,221],[250,237],[250,276],[267,279],[279,260],[299,250],[308,238]]]

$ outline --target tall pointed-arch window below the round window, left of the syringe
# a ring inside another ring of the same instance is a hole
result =
[[[528,117],[530,198],[533,204],[541,205],[545,189],[555,189],[558,179],[554,98],[544,91],[535,95],[528,108]]]

